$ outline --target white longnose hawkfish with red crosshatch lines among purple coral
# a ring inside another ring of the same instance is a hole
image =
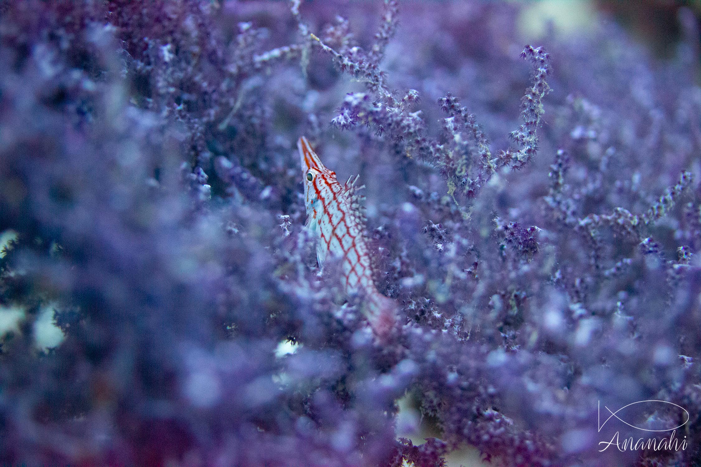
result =
[[[396,303],[375,287],[369,250],[365,239],[365,221],[360,211],[356,186],[358,176],[344,185],[336,172],[327,169],[305,137],[297,141],[304,176],[306,228],[316,240],[316,258],[323,269],[329,253],[341,262],[347,293],[365,295],[362,310],[378,337],[387,337],[395,323]]]

